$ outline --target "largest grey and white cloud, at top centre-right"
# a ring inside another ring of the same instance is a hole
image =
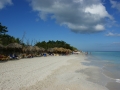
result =
[[[42,20],[55,19],[73,32],[95,33],[105,30],[106,20],[113,17],[101,0],[29,0]]]

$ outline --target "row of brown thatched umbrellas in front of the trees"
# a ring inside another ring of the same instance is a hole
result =
[[[40,51],[45,51],[45,49],[42,48],[42,47],[38,47],[38,46],[22,46],[22,45],[20,45],[18,43],[11,43],[11,44],[7,45],[6,47],[0,44],[0,49],[12,49],[12,50],[20,49],[23,52],[40,52]],[[70,49],[65,49],[65,48],[62,48],[62,47],[60,47],[60,48],[55,47],[55,48],[47,49],[47,52],[51,52],[51,53],[52,52],[55,52],[55,53],[57,53],[57,52],[59,52],[59,53],[66,53],[67,52],[67,53],[70,53],[72,51]]]

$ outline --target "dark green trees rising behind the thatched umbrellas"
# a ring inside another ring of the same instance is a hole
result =
[[[21,39],[19,38],[15,38],[14,36],[8,35],[6,34],[8,32],[7,27],[3,26],[0,23],[0,44],[6,46],[10,43],[18,43],[21,44],[23,46],[27,46],[29,45],[28,42],[24,43]],[[53,41],[53,40],[49,40],[48,42],[46,41],[42,41],[42,42],[36,42],[34,44],[34,46],[38,46],[38,47],[43,47],[45,50],[49,49],[49,48],[54,48],[54,47],[62,47],[62,48],[66,48],[66,49],[70,49],[70,50],[77,50],[76,47],[71,46],[70,44],[66,43],[65,41]]]

